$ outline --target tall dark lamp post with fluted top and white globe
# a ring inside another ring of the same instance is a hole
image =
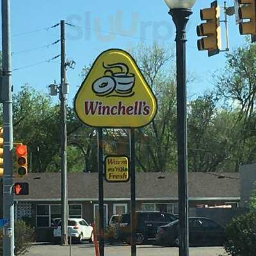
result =
[[[196,0],[164,0],[176,26],[177,135],[179,180],[179,256],[189,255],[188,236],[188,143],[186,109],[186,24]],[[177,242],[178,242],[177,241]]]

